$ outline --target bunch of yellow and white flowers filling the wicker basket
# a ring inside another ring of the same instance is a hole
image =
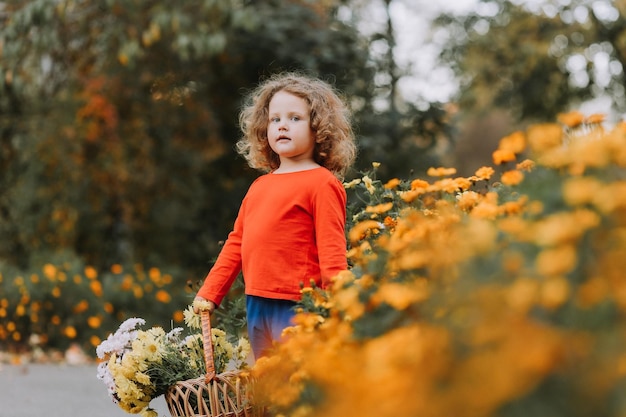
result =
[[[200,317],[192,306],[184,316],[190,330],[186,336],[180,327],[167,333],[161,327],[138,329],[145,320],[130,318],[96,348],[102,360],[97,377],[124,411],[157,417],[158,413],[150,408],[152,399],[165,394],[177,381],[206,372]],[[223,372],[227,366],[235,370],[247,366],[250,344],[245,338],[232,344],[220,329],[211,329],[211,336],[216,372]]]

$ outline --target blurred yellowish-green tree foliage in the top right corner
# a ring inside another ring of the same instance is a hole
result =
[[[461,107],[546,121],[607,95],[623,111],[624,13],[610,1],[483,0],[466,15],[440,16],[449,32],[442,59],[462,82]],[[604,71],[603,63],[620,69]]]

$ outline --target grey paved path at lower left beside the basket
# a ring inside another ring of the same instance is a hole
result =
[[[152,401],[169,417],[165,400]],[[111,402],[96,365],[0,364],[0,417],[129,417]]]

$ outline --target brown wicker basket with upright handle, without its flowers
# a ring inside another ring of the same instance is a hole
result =
[[[240,372],[215,373],[211,320],[208,311],[200,313],[206,375],[179,381],[165,393],[172,417],[261,417],[262,410],[250,402],[251,380]]]

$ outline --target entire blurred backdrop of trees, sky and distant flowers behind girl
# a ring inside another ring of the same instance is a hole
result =
[[[626,1],[436,3],[0,1],[0,350],[182,320],[259,175],[237,116],[272,73],[343,92],[347,179],[471,175],[530,123],[622,119]]]

